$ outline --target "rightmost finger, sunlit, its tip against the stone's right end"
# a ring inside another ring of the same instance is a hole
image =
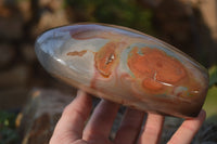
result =
[[[193,140],[193,136],[205,120],[205,110],[201,110],[196,118],[184,120],[181,127],[173,135],[168,144],[190,144]]]

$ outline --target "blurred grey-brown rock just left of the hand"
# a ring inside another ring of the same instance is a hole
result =
[[[72,100],[56,90],[34,89],[17,122],[22,144],[48,144],[56,121]]]

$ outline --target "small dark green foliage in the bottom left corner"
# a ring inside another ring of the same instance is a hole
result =
[[[15,130],[15,114],[0,112],[0,144],[17,143],[18,134]]]

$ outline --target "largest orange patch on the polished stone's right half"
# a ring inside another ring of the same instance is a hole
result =
[[[149,90],[162,89],[164,83],[175,84],[187,75],[181,63],[157,49],[135,47],[129,53],[128,66]]]

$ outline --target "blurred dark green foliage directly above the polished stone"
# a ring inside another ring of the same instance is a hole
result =
[[[152,11],[135,0],[65,0],[65,6],[72,8],[77,22],[115,24],[154,34]]]

